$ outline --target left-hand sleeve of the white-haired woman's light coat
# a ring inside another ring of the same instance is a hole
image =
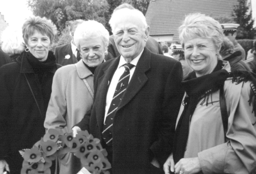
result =
[[[67,125],[65,115],[67,112],[66,90],[68,74],[65,72],[68,71],[60,68],[53,77],[52,92],[44,121],[46,130],[50,128],[63,129]]]

